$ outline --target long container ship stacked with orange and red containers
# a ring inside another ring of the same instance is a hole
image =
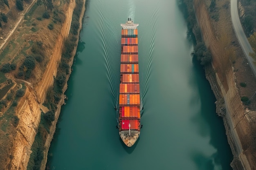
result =
[[[131,18],[121,24],[119,135],[130,147],[140,134],[138,30]]]

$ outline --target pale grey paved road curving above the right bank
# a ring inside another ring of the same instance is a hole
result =
[[[256,66],[254,65],[254,59],[249,56],[249,53],[253,53],[252,47],[249,44],[247,37],[245,35],[245,32],[243,30],[243,27],[241,25],[239,16],[238,16],[238,3],[237,0],[230,0],[230,6],[231,6],[231,18],[234,26],[234,30],[236,32],[236,36],[240,42],[240,45],[243,48],[243,51],[249,61],[249,64],[254,71],[254,75],[256,77]]]

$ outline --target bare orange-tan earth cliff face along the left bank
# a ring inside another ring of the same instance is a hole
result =
[[[13,144],[13,158],[9,163],[9,169],[11,170],[27,169],[27,163],[31,153],[30,148],[33,144],[38,129],[38,124],[40,122],[40,104],[44,102],[46,92],[49,86],[52,86],[54,82],[54,76],[56,77],[58,63],[61,59],[65,38],[67,38],[70,31],[70,24],[75,6],[75,0],[70,0],[70,3],[67,4],[67,6],[64,8],[66,18],[63,22],[63,27],[58,34],[54,51],[50,57],[50,61],[47,65],[45,73],[43,74],[40,82],[34,87],[34,89],[31,87],[27,88],[24,97],[22,97],[17,106],[17,113],[18,117],[20,118],[20,122],[17,127],[18,132]],[[36,93],[34,93],[34,90]]]

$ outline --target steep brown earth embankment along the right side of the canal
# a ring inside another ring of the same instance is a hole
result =
[[[222,46],[213,31],[211,18],[204,2],[194,0],[194,7],[204,42],[213,56],[212,67],[207,68],[206,73],[217,98],[217,113],[223,117],[229,145],[234,155],[231,166],[234,170],[255,170],[255,148],[251,119],[255,113],[246,111],[240,100],[233,67],[231,65],[229,67],[221,66],[223,58],[220,56],[223,56],[223,53],[220,48],[225,46]],[[225,31],[232,32],[230,30]],[[228,58],[228,56],[226,57]]]

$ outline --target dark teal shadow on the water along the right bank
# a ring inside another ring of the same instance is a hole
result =
[[[191,121],[193,121],[198,127],[200,131],[200,135],[202,137],[209,136],[209,143],[216,148],[216,153],[211,155],[214,163],[222,166],[223,170],[231,170],[231,166],[229,165],[233,159],[230,146],[227,142],[227,136],[225,134],[225,126],[221,117],[218,117],[216,114],[216,105],[214,104],[216,98],[211,91],[211,86],[208,80],[205,77],[204,69],[202,65],[193,57],[193,70],[195,75],[191,79],[191,86],[197,86],[198,92],[200,96],[200,115],[195,115]],[[212,110],[209,112],[209,110]],[[205,123],[206,122],[206,123]],[[196,153],[192,154],[192,158],[195,164],[200,164],[200,160],[204,159],[202,154]],[[222,158],[222,159],[220,159]],[[225,158],[225,159],[223,159]],[[211,163],[207,164],[211,168]],[[205,169],[205,168],[202,168]]]

